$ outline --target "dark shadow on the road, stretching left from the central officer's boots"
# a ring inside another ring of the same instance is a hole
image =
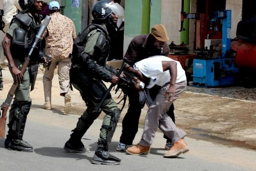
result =
[[[92,161],[92,157],[88,157],[85,154],[77,154],[77,153],[68,153],[65,152],[63,148],[60,147],[42,147],[34,149],[36,154],[48,157],[57,157],[57,158],[73,158],[73,159],[87,159]]]

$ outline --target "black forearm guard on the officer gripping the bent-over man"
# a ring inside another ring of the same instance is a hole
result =
[[[105,82],[110,82],[112,79],[112,74],[110,71],[108,71],[105,67],[98,65],[91,59],[87,60],[87,67],[96,77]]]

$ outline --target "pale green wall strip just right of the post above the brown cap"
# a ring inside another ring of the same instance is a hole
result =
[[[162,13],[162,0],[151,0],[149,29],[156,24],[161,24],[161,13]]]

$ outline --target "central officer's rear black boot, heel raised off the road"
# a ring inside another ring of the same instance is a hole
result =
[[[76,128],[72,131],[73,133],[70,135],[69,140],[64,145],[64,150],[66,152],[89,153],[90,150],[84,147],[84,144],[81,141],[83,134],[81,134]]]

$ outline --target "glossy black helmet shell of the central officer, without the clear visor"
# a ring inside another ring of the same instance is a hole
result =
[[[92,7],[92,17],[94,20],[105,20],[111,16],[111,9],[108,8],[108,4],[110,1],[108,0],[101,0],[98,1]]]

